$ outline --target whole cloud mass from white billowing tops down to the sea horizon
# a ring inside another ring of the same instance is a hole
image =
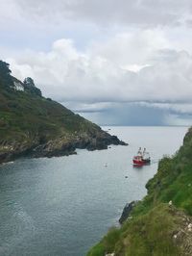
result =
[[[7,61],[13,75],[22,80],[32,76],[43,94],[93,121],[188,124],[192,114],[192,57],[186,51],[161,49],[159,41],[164,46],[169,43],[156,32],[154,40],[145,34],[152,36],[148,30],[135,33],[135,38],[117,35],[97,47],[90,44],[84,52],[72,39],[62,38],[48,52],[28,50]],[[145,46],[132,47],[137,39]],[[134,69],[137,66],[133,71],[132,65]]]

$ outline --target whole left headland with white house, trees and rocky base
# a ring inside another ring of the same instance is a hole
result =
[[[125,144],[98,125],[44,98],[32,78],[23,82],[0,61],[0,163],[19,156],[52,157]]]

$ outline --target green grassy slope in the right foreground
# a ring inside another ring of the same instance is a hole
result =
[[[88,256],[192,255],[192,128],[175,156],[159,162],[146,188],[132,217],[111,228]]]

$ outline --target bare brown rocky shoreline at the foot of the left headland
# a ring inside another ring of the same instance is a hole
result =
[[[33,142],[15,142],[12,144],[0,144],[0,164],[10,162],[20,157],[40,158],[40,157],[60,157],[77,154],[76,149],[102,150],[108,149],[108,145],[128,145],[120,141],[116,136],[111,136],[106,132],[90,136],[87,134],[72,136],[71,138],[60,137],[50,141],[40,141],[34,138]]]

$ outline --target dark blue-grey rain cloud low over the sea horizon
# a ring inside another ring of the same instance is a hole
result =
[[[140,102],[108,103],[108,108],[104,108],[103,111],[100,109],[99,111],[95,110],[95,112],[80,112],[80,115],[104,126],[190,126],[192,123],[191,114],[180,114],[163,107],[156,108],[153,104],[140,104]]]

